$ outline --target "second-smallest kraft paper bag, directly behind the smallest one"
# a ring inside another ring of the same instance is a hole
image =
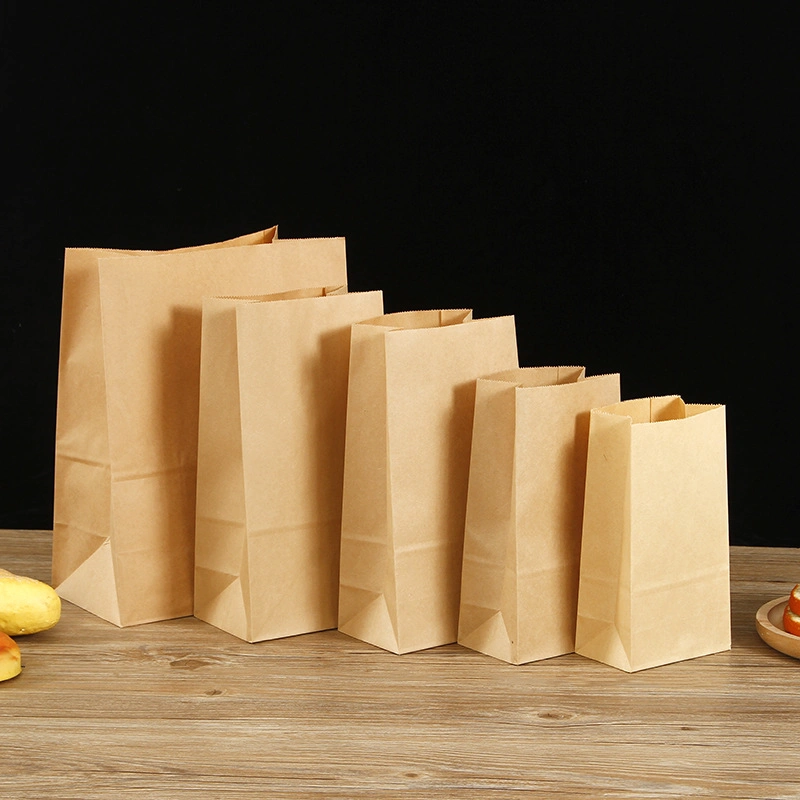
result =
[[[511,664],[575,649],[589,412],[619,375],[525,367],[478,379],[458,641]]]

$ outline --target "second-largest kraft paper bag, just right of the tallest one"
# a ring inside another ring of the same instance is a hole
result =
[[[350,328],[382,293],[206,298],[194,614],[257,642],[335,628]]]

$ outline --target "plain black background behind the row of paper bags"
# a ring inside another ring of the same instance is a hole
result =
[[[800,544],[798,31],[753,6],[1,2],[0,527],[52,525],[63,248],[278,224],[724,403],[731,542]]]

